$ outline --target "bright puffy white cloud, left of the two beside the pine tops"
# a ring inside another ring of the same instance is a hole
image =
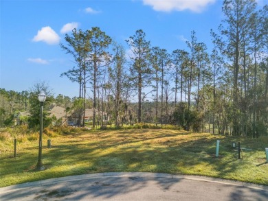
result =
[[[42,27],[32,40],[34,42],[43,41],[49,45],[54,45],[59,43],[60,36],[51,27]]]

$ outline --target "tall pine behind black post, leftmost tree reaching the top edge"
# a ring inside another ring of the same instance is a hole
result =
[[[256,2],[254,0],[225,0],[223,1],[223,14],[225,19],[223,25],[219,26],[219,31],[222,36],[212,34],[214,42],[221,49],[221,53],[233,62],[233,109],[232,109],[232,124],[233,134],[240,134],[239,126],[239,88],[238,75],[240,71],[240,60],[242,45],[245,41],[246,33],[252,27],[250,17],[256,10]]]

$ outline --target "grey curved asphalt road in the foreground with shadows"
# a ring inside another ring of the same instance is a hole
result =
[[[0,200],[268,200],[268,186],[201,176],[102,173],[0,188]]]

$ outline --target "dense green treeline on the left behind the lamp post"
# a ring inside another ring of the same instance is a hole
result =
[[[4,88],[0,88],[0,126],[14,126],[16,118],[22,112],[19,116],[20,123],[27,124],[30,128],[37,128],[40,113],[37,95],[41,91],[47,95],[43,113],[45,127],[49,126],[52,121],[56,121],[56,119],[48,117],[48,110],[52,104],[62,106],[67,111],[73,108],[76,97],[71,99],[61,94],[54,97],[52,89],[45,82],[36,83],[28,91],[22,92],[5,91]]]

